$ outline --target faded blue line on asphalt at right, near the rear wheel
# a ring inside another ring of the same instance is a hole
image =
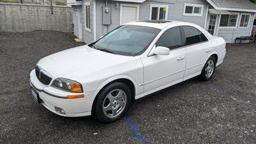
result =
[[[211,81],[206,81],[205,84],[207,86],[210,86],[211,88],[214,88],[216,90],[219,90],[220,92],[228,93],[231,97],[239,100],[243,100],[244,102],[256,102],[255,99],[251,95],[246,95],[241,92],[236,92],[236,90],[228,90],[228,88],[224,88],[223,86],[212,83]]]

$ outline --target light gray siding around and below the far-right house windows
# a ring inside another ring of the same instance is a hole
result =
[[[224,38],[227,43],[234,43],[236,37],[251,35],[254,13],[250,13],[251,16],[250,16],[248,28],[239,28],[241,13],[245,13],[245,12],[236,12],[236,13],[239,13],[237,18],[237,27],[236,28],[219,28],[219,31],[218,31],[218,36],[221,36],[222,38]]]

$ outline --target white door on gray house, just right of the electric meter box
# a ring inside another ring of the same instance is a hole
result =
[[[126,22],[131,22],[134,20],[138,20],[138,11],[139,6],[138,5],[121,5],[121,15],[120,15],[120,24],[124,24]]]

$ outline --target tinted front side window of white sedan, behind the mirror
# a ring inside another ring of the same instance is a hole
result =
[[[170,50],[181,47],[181,45],[182,42],[179,27],[168,29],[156,42],[156,47],[168,47]]]

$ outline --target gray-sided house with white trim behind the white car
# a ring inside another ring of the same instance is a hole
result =
[[[133,20],[180,20],[202,26],[233,43],[250,36],[256,5],[249,0],[67,0],[74,35],[91,43]]]

